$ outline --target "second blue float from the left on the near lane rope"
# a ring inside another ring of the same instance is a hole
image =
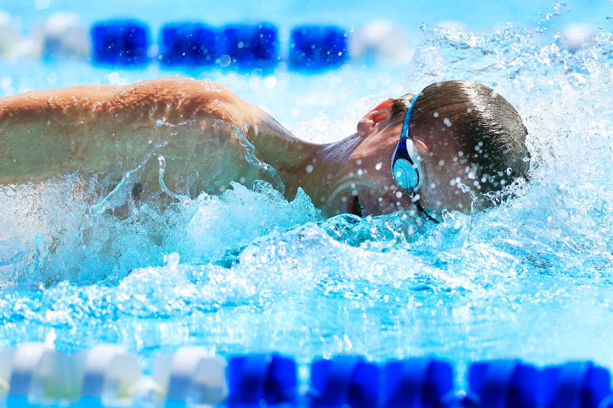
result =
[[[379,367],[364,357],[341,355],[311,365],[311,408],[376,408]]]

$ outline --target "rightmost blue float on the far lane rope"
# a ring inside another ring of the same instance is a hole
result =
[[[289,46],[289,64],[295,69],[329,69],[348,59],[347,33],[334,26],[296,27]]]

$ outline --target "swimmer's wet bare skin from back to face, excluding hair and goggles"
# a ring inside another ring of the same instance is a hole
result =
[[[128,86],[26,92],[0,98],[0,184],[39,182],[75,169],[102,173],[118,157],[137,165],[167,142],[155,154],[164,154],[169,173],[192,177],[199,186],[191,191],[194,195],[215,193],[232,180],[257,176],[245,162],[235,127],[255,146],[256,157],[278,171],[288,199],[302,187],[327,216],[413,209],[390,171],[402,124],[391,124],[389,114],[387,105],[379,105],[353,135],[314,144],[296,138],[262,109],[211,81],[161,78]],[[159,121],[189,124],[171,137],[176,129]],[[451,181],[465,178],[466,171],[444,136],[441,128],[440,135],[433,129],[429,143],[414,137],[425,177],[420,200],[437,213],[466,210],[471,202]],[[158,171],[156,160],[150,161],[139,183],[154,188]],[[170,188],[180,187],[173,180],[183,179],[171,177]]]

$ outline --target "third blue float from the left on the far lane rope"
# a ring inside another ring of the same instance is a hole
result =
[[[219,40],[224,54],[239,69],[268,69],[279,62],[278,29],[272,24],[230,24]]]

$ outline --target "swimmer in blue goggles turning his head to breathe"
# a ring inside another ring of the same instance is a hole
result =
[[[187,125],[173,127],[181,123]],[[479,83],[446,81],[390,98],[365,114],[353,135],[316,144],[221,84],[162,78],[0,98],[0,184],[75,169],[102,174],[118,157],[137,163],[154,152],[152,161],[163,154],[169,169],[189,174],[197,186],[192,196],[215,193],[254,177],[245,147],[229,142],[237,129],[257,159],[276,169],[287,199],[302,187],[328,217],[414,209],[436,222],[444,209],[470,212],[468,189],[473,196],[501,190],[527,177],[530,165],[516,109]],[[153,167],[133,195],[159,188]],[[180,185],[169,180],[169,188]]]

